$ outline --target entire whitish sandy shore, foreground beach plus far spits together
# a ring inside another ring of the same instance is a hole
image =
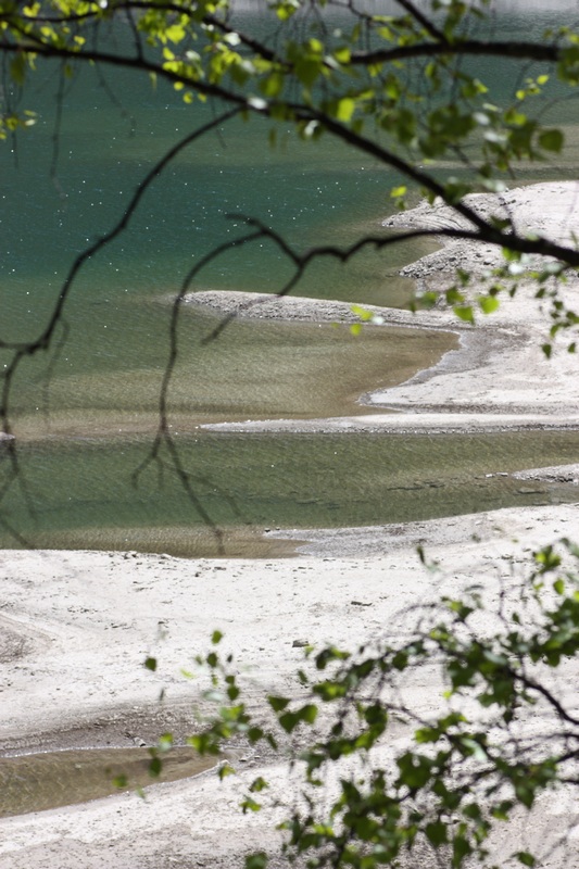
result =
[[[525,215],[527,225],[561,235],[570,226],[579,229],[576,192],[575,185],[541,185],[532,194],[529,189],[513,191],[508,206]],[[488,204],[488,199],[480,200],[481,207]],[[442,209],[420,209],[404,219],[441,222],[449,215]],[[448,245],[433,259],[425,257],[413,266],[415,276],[444,280],[456,257],[463,262],[461,251]],[[468,267],[478,267],[473,265],[478,259],[481,269],[488,267],[490,255],[477,257],[464,249],[465,257],[474,257]],[[579,426],[576,358],[564,352],[550,362],[544,358],[539,348],[544,314],[531,295],[531,288],[524,286],[499,315],[474,328],[458,327],[443,310],[417,315],[413,325],[460,330],[461,349],[400,387],[364,396],[373,407],[366,417],[307,425],[314,430],[357,425],[408,431]],[[232,294],[224,299],[228,305],[248,301]],[[207,294],[194,301],[217,303]],[[290,304],[295,316],[315,317],[318,311],[312,302],[307,311],[295,300]],[[250,307],[255,312],[259,304]],[[328,317],[339,311],[344,318],[351,314],[344,306],[332,314],[330,308]],[[406,313],[377,313],[385,322],[399,318],[400,325],[408,325]],[[380,413],[383,407],[399,413]],[[278,430],[284,425],[256,420],[241,428]],[[534,468],[521,476],[575,481],[579,466]],[[310,542],[293,559],[187,562],[136,553],[5,551],[0,561],[2,752],[150,743],[166,730],[182,739],[199,727],[205,680],[187,680],[181,670],[192,668],[196,654],[207,650],[216,628],[239,662],[250,705],[260,711],[264,691],[299,692],[293,675],[302,664],[304,642],[357,646],[383,635],[385,626],[393,630],[404,608],[442,589],[456,593],[474,578],[489,589],[496,590],[500,581],[516,590],[517,571],[531,551],[577,536],[578,527],[579,504],[571,504],[404,526],[301,530],[300,539]],[[291,531],[275,533],[292,537]],[[418,543],[440,562],[438,579],[420,564]],[[154,673],[143,667],[147,655],[159,659]],[[569,684],[575,678],[572,672]],[[439,703],[440,690],[429,671],[408,687],[425,713]],[[124,794],[0,820],[0,869],[242,865],[240,855],[248,847],[276,846],[273,822],[281,811],[272,807],[243,817],[237,808],[243,784],[262,771],[274,782],[274,797],[284,802],[291,782],[279,758],[243,753],[242,746],[239,751],[239,776],[222,784],[204,773],[155,785],[144,803]],[[521,821],[519,833],[530,837],[527,846],[542,846],[545,831],[572,824],[574,813],[563,796],[544,801],[531,827]],[[509,841],[508,851],[513,848]],[[555,858],[549,864],[568,865]]]

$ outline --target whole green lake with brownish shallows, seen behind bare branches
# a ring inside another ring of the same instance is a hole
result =
[[[240,14],[251,27],[254,13]],[[515,8],[502,16],[501,28],[539,38],[545,26],[577,17],[550,7],[529,20]],[[493,61],[481,70],[500,92],[512,87],[505,64]],[[5,340],[38,332],[73,257],[110,229],[154,161],[215,109],[191,110],[162,84],[151,90],[148,81],[118,72],[109,81],[115,104],[103,81],[84,71],[64,93],[56,136],[56,72],[40,65],[25,95],[39,123],[15,150],[0,149]],[[551,113],[567,135],[565,156],[556,165],[525,167],[521,181],[576,177],[579,126],[569,124],[568,101],[555,100]],[[305,144],[281,131],[272,150],[266,133],[263,122],[235,122],[184,152],[154,182],[128,230],[80,274],[60,352],[23,366],[12,399],[21,477],[4,496],[2,516],[29,542],[182,555],[213,551],[199,511],[169,471],[151,468],[138,488],[131,476],[156,421],[167,298],[194,262],[241,231],[228,213],[256,216],[301,249],[345,244],[361,231],[381,231],[389,188],[400,180],[329,140]],[[446,162],[437,171],[464,169]],[[404,306],[412,284],[398,272],[429,250],[419,242],[380,255],[368,251],[347,267],[324,262],[295,293]],[[197,289],[272,292],[289,274],[272,245],[255,245],[217,261]],[[217,342],[203,345],[214,324],[206,314],[185,313],[171,407],[184,465],[203,508],[230,529],[231,554],[259,552],[264,526],[377,524],[572,498],[570,490],[544,487],[521,493],[512,482],[484,482],[483,475],[576,461],[574,433],[203,433],[197,427],[209,420],[360,413],[360,394],[406,379],[453,345],[441,333],[368,328],[354,339],[345,328],[265,323],[232,324]],[[7,462],[1,473],[8,474]],[[0,544],[20,545],[8,532],[0,533]]]

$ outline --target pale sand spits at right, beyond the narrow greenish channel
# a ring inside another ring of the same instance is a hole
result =
[[[469,197],[469,204],[482,216],[515,216],[519,231],[534,230],[546,237],[570,242],[579,234],[579,185],[543,184],[505,193],[499,200],[490,194]],[[389,218],[392,228],[466,226],[448,206],[421,205]],[[440,251],[407,266],[403,274],[413,277],[423,290],[453,286],[455,269],[475,276],[473,297],[490,269],[501,263],[501,253],[491,245],[464,241],[445,243]],[[478,278],[478,281],[477,281]],[[494,314],[480,314],[474,327],[461,325],[452,311],[437,307],[415,315],[403,311],[368,306],[388,326],[445,328],[458,332],[461,347],[446,353],[431,368],[418,373],[400,386],[368,393],[361,401],[373,413],[337,419],[248,420],[223,423],[209,428],[231,431],[340,431],[381,430],[421,432],[436,430],[505,430],[505,428],[576,427],[579,425],[579,378],[575,354],[566,351],[566,336],[554,344],[547,360],[541,350],[549,332],[549,301],[534,299],[536,287],[521,280],[514,298],[501,297]],[[579,278],[559,287],[561,297],[572,304],[578,298]],[[189,302],[207,305],[223,314],[238,311],[242,316],[270,316],[277,302],[251,293],[198,293]],[[316,317],[312,300],[285,299],[276,316],[290,312],[291,318]],[[345,303],[322,303],[320,320],[355,320]],[[397,411],[380,414],[380,408]]]

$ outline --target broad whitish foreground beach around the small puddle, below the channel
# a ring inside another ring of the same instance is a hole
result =
[[[7,753],[123,747],[153,743],[167,730],[179,743],[199,729],[200,692],[209,684],[205,677],[185,679],[181,668],[193,669],[217,628],[225,634],[222,651],[235,655],[249,708],[265,714],[266,693],[300,696],[295,672],[306,666],[304,642],[357,647],[383,637],[385,625],[404,631],[414,606],[442,593],[455,596],[474,581],[489,590],[499,583],[498,596],[501,589],[517,593],[534,547],[572,537],[578,519],[579,504],[567,504],[333,529],[312,533],[317,555],[265,563],[4,553],[10,607],[3,627],[26,629],[28,640],[18,656],[2,659]],[[420,563],[417,545],[439,563],[438,574]],[[154,673],[143,667],[151,654],[159,660]],[[575,670],[569,685],[574,679]],[[418,670],[408,702],[420,715],[432,714],[439,689],[429,668]],[[405,734],[394,727],[398,744]],[[123,793],[0,819],[0,867],[153,869],[171,856],[181,869],[231,869],[248,849],[279,845],[275,801],[285,804],[292,793],[285,757],[238,744],[237,774],[224,782],[210,771],[155,784],[146,801]],[[272,784],[272,803],[248,819],[239,802],[260,774]],[[547,827],[566,821],[551,796],[536,810]],[[511,833],[503,844],[512,849]]]

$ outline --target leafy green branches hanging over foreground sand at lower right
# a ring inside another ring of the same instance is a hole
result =
[[[299,735],[301,793],[281,824],[291,859],[373,869],[405,855],[412,865],[421,847],[432,865],[439,854],[452,867],[489,866],[496,828],[544,792],[578,783],[579,718],[554,678],[579,652],[578,561],[579,549],[562,540],[494,599],[496,589],[473,587],[406,614],[398,642],[394,629],[355,654],[309,650],[294,695],[267,698],[272,728],[253,720],[214,635],[199,664],[211,672],[206,696],[217,711],[192,744],[216,753],[239,735],[273,746]],[[425,668],[427,710],[416,698]],[[259,811],[267,788],[260,776],[243,811]],[[567,830],[557,834],[563,841]],[[527,851],[502,854],[501,865],[507,857],[536,865]],[[260,861],[263,854],[252,855],[248,866]]]

